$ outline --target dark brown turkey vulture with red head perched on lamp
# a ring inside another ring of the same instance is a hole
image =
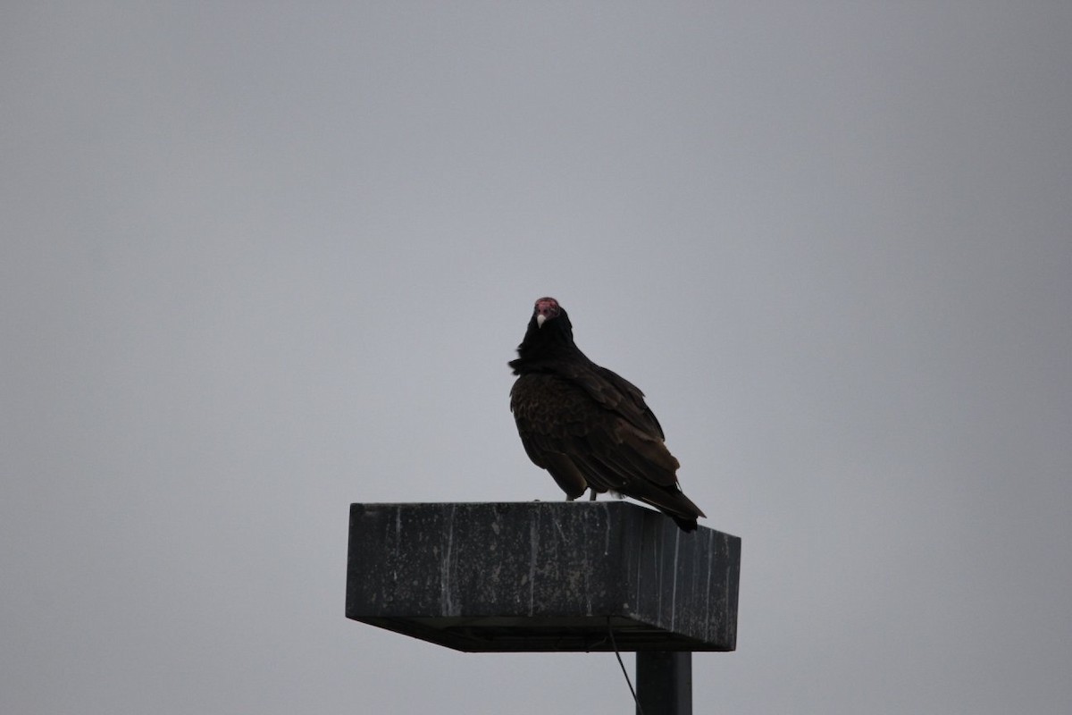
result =
[[[557,300],[539,298],[518,358],[510,412],[528,459],[574,501],[611,492],[662,511],[685,532],[706,515],[681,490],[681,466],[644,393],[590,360]]]

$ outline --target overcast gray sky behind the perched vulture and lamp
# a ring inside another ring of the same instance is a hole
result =
[[[0,711],[631,712],[343,615],[349,503],[561,498],[551,295],[743,538],[698,713],[1072,712],[1072,4],[2,16]]]

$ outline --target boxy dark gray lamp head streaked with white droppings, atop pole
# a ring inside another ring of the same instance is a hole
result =
[[[741,539],[628,502],[353,504],[346,616],[459,651],[732,651]]]

